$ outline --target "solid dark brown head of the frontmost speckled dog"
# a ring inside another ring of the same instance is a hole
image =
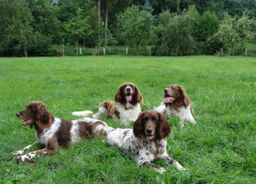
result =
[[[154,110],[141,112],[133,126],[134,136],[141,139],[160,140],[170,134],[170,125],[164,115]]]

